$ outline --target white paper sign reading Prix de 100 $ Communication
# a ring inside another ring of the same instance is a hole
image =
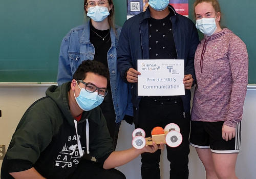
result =
[[[138,96],[185,95],[184,60],[138,60]]]

